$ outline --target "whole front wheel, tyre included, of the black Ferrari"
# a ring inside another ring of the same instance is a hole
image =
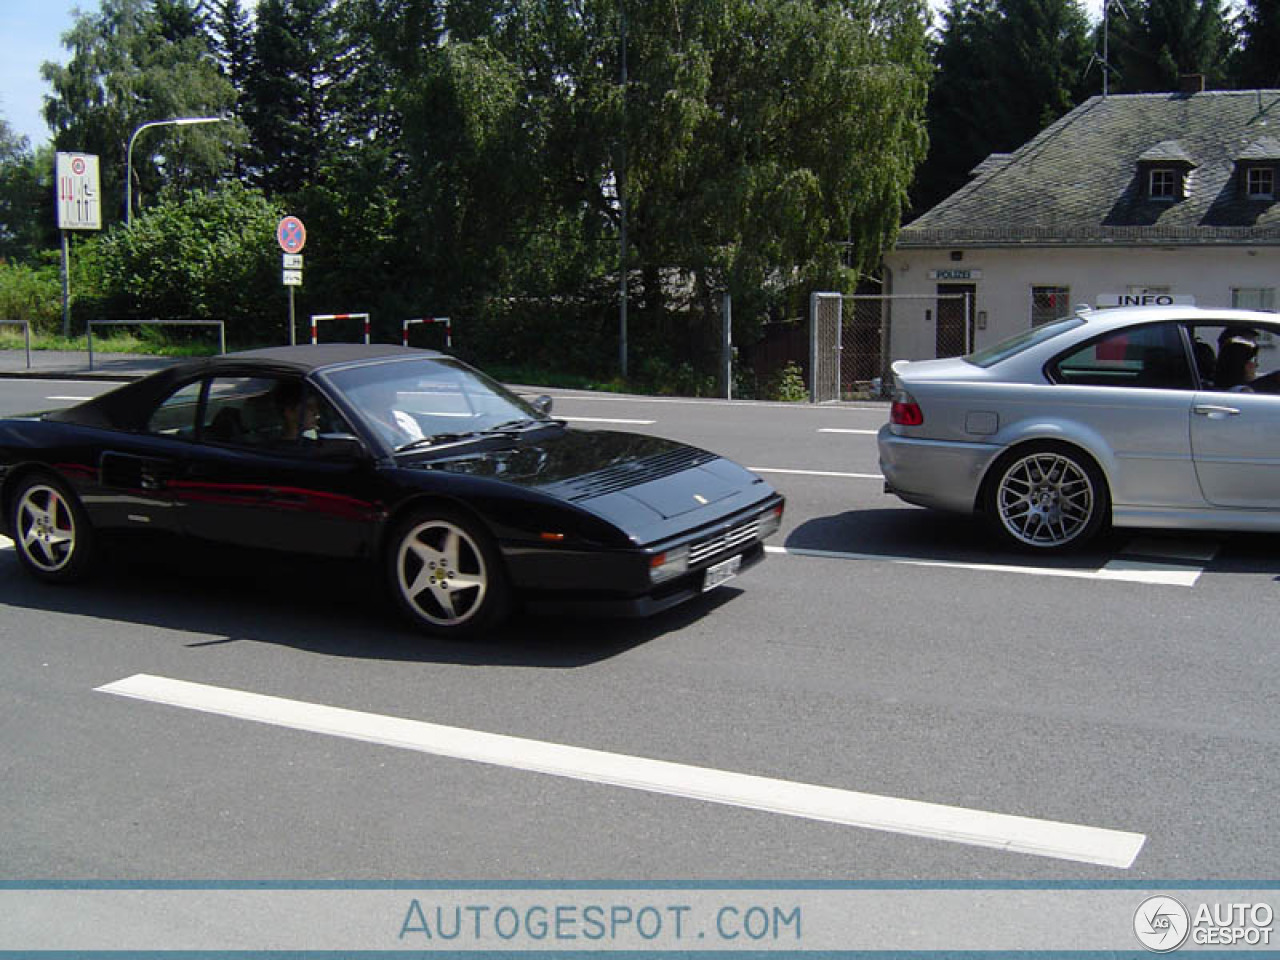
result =
[[[397,529],[388,547],[392,590],[410,620],[438,636],[474,636],[507,612],[502,559],[471,520],[422,511]]]

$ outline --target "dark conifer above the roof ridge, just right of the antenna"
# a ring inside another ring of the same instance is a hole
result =
[[[1222,0],[1128,0],[1110,18],[1115,93],[1162,93],[1183,74],[1203,74],[1210,88],[1226,83],[1233,37]]]

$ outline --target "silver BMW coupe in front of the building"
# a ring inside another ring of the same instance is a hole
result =
[[[897,361],[884,488],[1043,552],[1108,524],[1280,530],[1277,366],[1280,314],[1179,306]]]

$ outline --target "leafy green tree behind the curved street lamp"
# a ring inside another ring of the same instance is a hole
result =
[[[104,214],[124,212],[131,134],[174,116],[225,114],[234,90],[219,74],[189,0],[102,0],[63,36],[70,60],[41,68],[52,87],[45,119],[59,150],[96,154]],[[161,184],[212,183],[229,163],[232,124],[164,127],[140,137],[133,154],[136,202]]]

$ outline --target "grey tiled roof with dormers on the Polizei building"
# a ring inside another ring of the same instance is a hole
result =
[[[1280,243],[1280,202],[1236,160],[1277,159],[1280,90],[1093,97],[899,233],[899,248]],[[1152,152],[1155,151],[1155,152]],[[1138,161],[1192,164],[1185,200],[1142,196]]]

